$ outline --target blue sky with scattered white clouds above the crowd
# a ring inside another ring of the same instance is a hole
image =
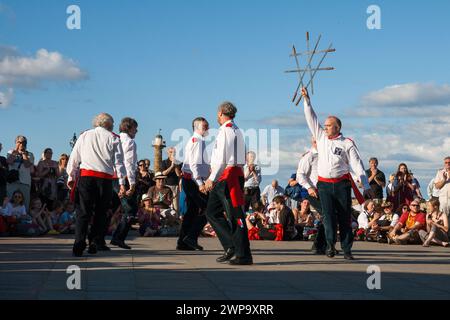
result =
[[[381,29],[367,28],[372,4]],[[70,5],[81,10],[80,30],[66,26]],[[138,156],[153,159],[159,129],[176,145],[197,116],[217,128],[217,106],[229,100],[243,130],[278,130],[279,150],[269,140],[257,151],[279,162],[262,166],[263,185],[286,185],[310,134],[291,103],[298,78],[284,71],[309,31],[312,43],[322,35],[320,49],[336,49],[322,65],[335,70],[314,81],[320,120],[341,118],[366,167],[376,156],[389,175],[405,162],[426,195],[450,154],[449,12],[437,0],[0,0],[2,153],[18,134],[36,158],[46,147],[69,153],[73,133],[108,112],[116,124],[138,120]]]

